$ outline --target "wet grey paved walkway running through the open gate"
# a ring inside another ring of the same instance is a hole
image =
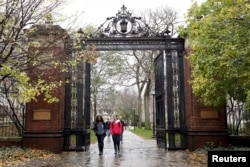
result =
[[[104,140],[104,154],[98,155],[93,144],[88,152],[63,152],[56,158],[34,160],[18,167],[202,167],[207,164],[193,163],[185,151],[168,151],[157,148],[156,140],[144,140],[125,131],[120,154],[114,154],[112,137]]]

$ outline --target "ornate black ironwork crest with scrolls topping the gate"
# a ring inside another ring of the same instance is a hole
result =
[[[157,36],[141,17],[134,17],[125,5],[121,7],[116,16],[107,20],[94,33],[94,36],[105,37],[148,37],[151,34]]]

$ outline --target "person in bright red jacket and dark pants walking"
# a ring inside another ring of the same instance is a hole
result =
[[[117,115],[114,116],[113,121],[110,123],[110,133],[112,135],[115,154],[120,153],[120,136],[122,133],[122,123],[117,118]]]

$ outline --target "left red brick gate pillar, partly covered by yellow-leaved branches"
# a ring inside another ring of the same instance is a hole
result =
[[[28,72],[31,82],[39,77],[47,83],[64,81],[62,67],[52,62],[65,59],[63,42],[65,31],[57,25],[36,25],[31,29],[29,42],[36,41],[36,45],[30,45],[30,55],[34,56],[41,52],[36,56],[39,56],[38,63],[42,62],[42,65]],[[34,67],[32,64],[29,66]],[[44,94],[41,94],[36,100],[27,103],[23,146],[59,153],[63,149],[64,85],[51,90],[51,93],[59,98],[59,102],[47,103]]]

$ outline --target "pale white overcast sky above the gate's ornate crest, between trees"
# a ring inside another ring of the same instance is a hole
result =
[[[67,5],[61,12],[66,16],[77,15],[76,27],[84,27],[87,24],[99,26],[107,17],[115,16],[123,4],[133,13],[168,6],[178,11],[182,21],[192,0],[67,0]]]

